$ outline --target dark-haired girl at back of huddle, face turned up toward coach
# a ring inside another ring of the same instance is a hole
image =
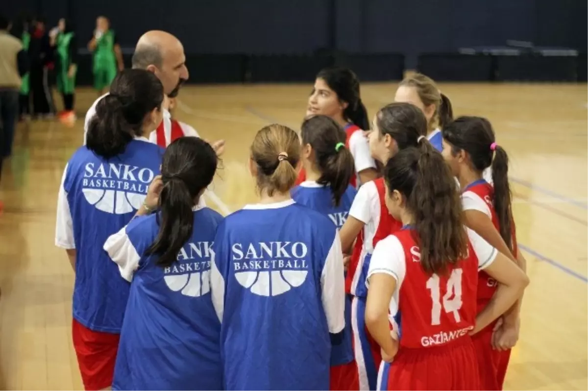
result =
[[[358,76],[350,69],[333,67],[322,69],[316,75],[315,86],[308,98],[306,118],[326,115],[345,130],[345,148],[355,162],[355,172],[350,184],[368,183],[377,178],[376,163],[369,152],[368,140],[362,132],[369,129],[368,112],[359,94]],[[305,171],[299,172],[296,184],[305,181]]]

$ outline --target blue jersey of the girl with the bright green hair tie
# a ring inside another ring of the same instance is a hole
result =
[[[308,206],[323,216],[328,217],[335,226],[340,229],[353,203],[357,191],[348,186],[341,197],[339,206],[333,203],[333,195],[329,186],[322,186],[313,181],[300,183],[290,192],[292,198],[300,205]],[[351,332],[351,298],[349,295],[345,298],[345,330],[343,332],[343,341],[339,345],[333,345],[330,357],[330,365],[344,365],[353,361],[353,345]]]

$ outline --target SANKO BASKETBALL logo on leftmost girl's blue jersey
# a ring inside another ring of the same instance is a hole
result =
[[[120,163],[86,163],[82,193],[102,212],[123,215],[141,207],[155,173]]]

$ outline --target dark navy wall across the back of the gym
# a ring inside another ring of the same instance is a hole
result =
[[[82,5],[83,3],[83,5]],[[107,15],[122,46],[143,32],[177,35],[186,52],[292,54],[334,48],[401,52],[412,65],[422,52],[504,45],[507,39],[588,50],[586,0],[19,0],[0,10],[42,12],[50,25],[75,19],[81,45],[95,17]]]

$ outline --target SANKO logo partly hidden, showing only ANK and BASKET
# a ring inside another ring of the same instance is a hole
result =
[[[173,292],[198,298],[211,292],[212,242],[188,243],[178,253],[178,263],[163,269],[163,280]]]

